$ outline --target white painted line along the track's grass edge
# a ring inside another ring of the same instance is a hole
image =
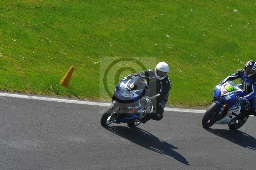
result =
[[[104,102],[91,102],[91,101],[84,101],[84,100],[69,100],[69,99],[60,99],[60,98],[51,98],[51,97],[28,96],[28,95],[19,95],[19,94],[12,94],[12,93],[0,93],[0,96],[44,100],[44,101],[61,102],[61,103],[72,103],[72,104],[86,104],[86,105],[97,105],[97,106],[110,105],[109,103],[104,103]],[[205,113],[205,110],[183,109],[183,108],[172,108],[172,107],[165,107],[164,110],[172,111],[172,112]]]

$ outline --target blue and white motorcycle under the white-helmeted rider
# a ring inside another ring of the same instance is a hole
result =
[[[120,81],[112,96],[112,103],[101,117],[102,126],[111,123],[127,123],[129,127],[138,126],[147,113],[151,111],[152,104],[143,102],[147,95],[148,85],[139,76],[133,76],[127,81]]]

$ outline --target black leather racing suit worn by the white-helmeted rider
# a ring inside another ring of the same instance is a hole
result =
[[[168,100],[169,91],[172,83],[168,76],[163,80],[156,79],[155,70],[144,70],[138,73],[129,74],[129,77],[140,76],[148,82],[148,92],[146,95],[150,97],[153,105],[153,112],[148,115],[148,119],[161,120],[163,118],[165,103]]]

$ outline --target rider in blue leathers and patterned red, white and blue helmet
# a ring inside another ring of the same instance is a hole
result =
[[[252,107],[251,115],[256,116],[256,62],[247,61],[244,69],[239,69],[235,73],[226,77],[220,84],[226,81],[233,81],[238,78],[241,79],[241,87],[244,90],[246,96],[238,99],[239,103],[249,101]]]

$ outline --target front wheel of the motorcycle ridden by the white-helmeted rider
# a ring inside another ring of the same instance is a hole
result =
[[[102,126],[108,126],[112,122],[114,122],[117,117],[118,107],[116,107],[113,103],[109,106],[108,110],[106,110],[103,115],[101,116],[100,123]]]

